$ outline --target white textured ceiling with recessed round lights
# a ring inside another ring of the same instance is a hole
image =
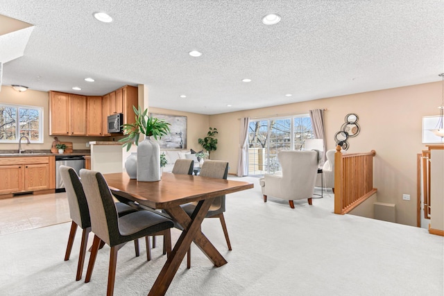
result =
[[[114,21],[96,21],[97,11]],[[271,12],[280,23],[262,24]],[[443,0],[1,0],[0,15],[35,25],[24,56],[3,65],[3,85],[101,95],[144,84],[150,106],[201,114],[433,82],[444,71]]]

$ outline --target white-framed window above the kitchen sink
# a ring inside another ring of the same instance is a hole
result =
[[[0,104],[0,143],[43,143],[43,107]]]

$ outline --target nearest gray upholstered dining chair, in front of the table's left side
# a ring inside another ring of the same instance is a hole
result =
[[[80,178],[88,202],[92,232],[95,234],[85,283],[91,279],[97,252],[103,241],[111,247],[107,295],[112,295],[119,249],[128,241],[156,234],[166,238],[165,241],[169,243],[169,250],[171,250],[170,229],[174,223],[169,218],[153,211],[136,211],[119,217],[110,188],[103,175],[83,168],[80,170]]]

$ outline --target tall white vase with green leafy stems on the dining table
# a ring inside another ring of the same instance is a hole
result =
[[[163,119],[148,116],[148,109],[142,111],[133,106],[135,123],[123,125],[123,133],[126,137],[120,139],[123,147],[130,150],[133,143],[137,146],[137,181],[160,181],[160,148],[155,140],[161,139],[170,132],[169,123]],[[145,139],[139,143],[139,134],[144,134]]]

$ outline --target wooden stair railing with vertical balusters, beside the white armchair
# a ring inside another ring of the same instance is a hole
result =
[[[334,154],[334,213],[347,214],[364,202],[377,189],[373,188],[373,157],[369,153],[342,154],[336,146]]]

